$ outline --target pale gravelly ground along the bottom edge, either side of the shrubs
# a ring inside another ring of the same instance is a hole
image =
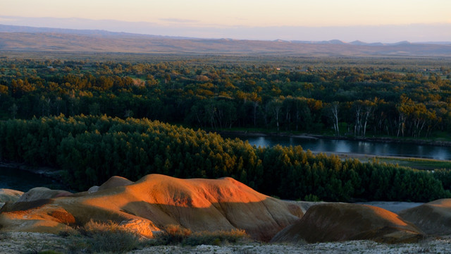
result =
[[[42,233],[11,232],[0,235],[0,253],[38,253],[56,250],[68,253],[68,240],[61,236]],[[132,250],[130,254],[144,253],[450,253],[451,236],[426,238],[420,243],[385,244],[373,241],[346,241],[314,244],[244,243],[226,246],[156,246]]]

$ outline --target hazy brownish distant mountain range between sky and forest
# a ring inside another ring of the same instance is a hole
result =
[[[451,42],[261,41],[140,35],[0,25],[1,51],[266,54],[291,56],[451,56]]]

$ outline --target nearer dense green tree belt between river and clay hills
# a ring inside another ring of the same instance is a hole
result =
[[[42,117],[0,122],[0,159],[63,169],[78,190],[113,175],[136,181],[158,173],[180,178],[231,176],[286,199],[411,200],[451,197],[451,171],[419,171],[313,155],[302,147],[252,147],[215,133],[108,116]]]

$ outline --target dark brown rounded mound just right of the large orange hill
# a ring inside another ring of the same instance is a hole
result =
[[[328,203],[311,207],[301,220],[280,231],[271,242],[373,240],[407,243],[422,237],[416,226],[382,208]]]

